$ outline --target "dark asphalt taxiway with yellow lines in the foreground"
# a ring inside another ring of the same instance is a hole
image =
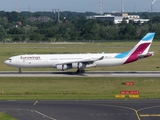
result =
[[[160,100],[0,101],[19,120],[159,120]]]

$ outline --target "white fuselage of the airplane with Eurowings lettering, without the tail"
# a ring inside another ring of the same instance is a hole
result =
[[[55,68],[57,64],[76,63],[85,59],[98,59],[102,56],[102,60],[94,62],[94,66],[116,66],[122,65],[126,58],[114,58],[116,53],[107,54],[33,54],[33,55],[18,55],[9,58],[5,64],[17,68]],[[90,66],[86,66],[90,67]]]

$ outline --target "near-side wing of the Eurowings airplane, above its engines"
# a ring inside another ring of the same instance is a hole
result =
[[[104,56],[101,56],[100,58],[98,59],[82,59],[82,60],[75,60],[75,61],[68,61],[68,62],[59,62],[57,63],[56,65],[60,65],[60,64],[71,64],[71,63],[88,63],[88,64],[91,64],[95,61],[98,61],[98,60],[103,60]]]

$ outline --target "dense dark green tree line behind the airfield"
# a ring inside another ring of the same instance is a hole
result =
[[[131,13],[150,19],[144,24],[86,19],[86,16],[95,14],[65,11],[60,13],[58,21],[53,12],[0,11],[0,42],[133,41],[141,39],[147,32],[156,32],[155,39],[160,40],[159,13]],[[43,16],[51,19],[47,22],[28,20]]]

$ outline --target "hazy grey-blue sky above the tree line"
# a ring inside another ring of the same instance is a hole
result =
[[[120,12],[121,0],[102,0],[103,12]],[[151,4],[153,12],[160,12],[160,0],[124,0],[125,12],[150,12]],[[0,0],[0,10],[15,11],[16,3],[18,11],[60,11],[96,12],[100,11],[99,0]]]

